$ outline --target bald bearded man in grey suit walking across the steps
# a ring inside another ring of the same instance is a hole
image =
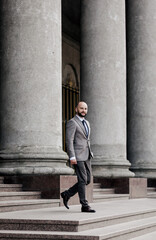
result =
[[[63,203],[68,207],[68,200],[76,193],[79,195],[82,212],[93,213],[86,200],[86,185],[91,181],[91,158],[93,154],[90,148],[90,124],[85,119],[88,106],[85,102],[79,102],[76,115],[70,119],[66,127],[66,146],[70,164],[74,166],[77,175],[77,183],[61,193]]]

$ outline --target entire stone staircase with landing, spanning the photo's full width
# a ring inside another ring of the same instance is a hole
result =
[[[0,239],[155,240],[154,194],[148,188],[148,198],[130,200],[96,183],[96,213],[81,213],[80,205],[58,207],[59,200],[40,199],[40,192],[22,191],[21,184],[4,184],[0,177]]]

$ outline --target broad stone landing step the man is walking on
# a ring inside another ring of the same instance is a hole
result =
[[[1,213],[0,230],[81,232],[146,218],[156,220],[153,199],[99,203],[93,208],[96,213],[81,213],[80,206]]]

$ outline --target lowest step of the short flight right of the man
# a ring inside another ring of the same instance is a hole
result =
[[[93,201],[104,202],[104,201],[116,201],[116,200],[129,199],[129,194],[95,194],[93,195]]]

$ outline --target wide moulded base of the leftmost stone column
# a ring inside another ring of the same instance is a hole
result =
[[[17,151],[18,150],[18,151]],[[0,151],[0,174],[73,174],[62,149],[25,147]]]

